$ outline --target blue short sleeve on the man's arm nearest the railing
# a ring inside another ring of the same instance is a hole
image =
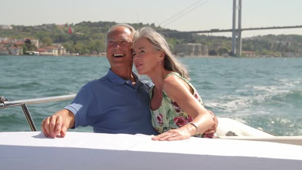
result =
[[[71,111],[75,117],[74,128],[78,126],[89,125],[90,120],[87,119],[87,114],[91,103],[94,100],[94,95],[88,86],[84,86],[77,93],[74,100],[64,109]]]

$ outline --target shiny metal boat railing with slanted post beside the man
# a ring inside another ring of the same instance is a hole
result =
[[[61,101],[75,98],[75,94],[72,95],[64,95],[64,96],[53,96],[53,97],[44,97],[44,98],[34,98],[34,99],[25,99],[25,100],[15,100],[8,101],[5,97],[0,96],[0,109],[15,107],[20,105],[23,113],[26,117],[28,125],[32,131],[37,131],[35,123],[32,119],[32,116],[28,110],[27,104],[37,104],[37,103],[46,103],[51,101]]]

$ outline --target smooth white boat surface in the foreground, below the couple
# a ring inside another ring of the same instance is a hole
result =
[[[299,169],[302,146],[191,137],[153,141],[147,135],[68,132],[0,133],[1,169]]]

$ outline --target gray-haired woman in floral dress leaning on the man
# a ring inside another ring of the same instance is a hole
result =
[[[133,62],[155,86],[150,89],[152,124],[161,133],[153,140],[182,140],[203,135],[214,120],[203,106],[197,90],[188,81],[188,71],[172,55],[165,38],[150,28],[134,35]]]

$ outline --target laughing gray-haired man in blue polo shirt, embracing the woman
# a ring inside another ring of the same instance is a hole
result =
[[[132,72],[134,33],[134,28],[126,24],[110,29],[106,48],[111,66],[108,73],[85,84],[71,104],[42,120],[45,136],[64,137],[68,129],[88,125],[97,133],[158,134],[149,111],[148,90],[152,84]],[[215,127],[207,133],[214,131]]]

